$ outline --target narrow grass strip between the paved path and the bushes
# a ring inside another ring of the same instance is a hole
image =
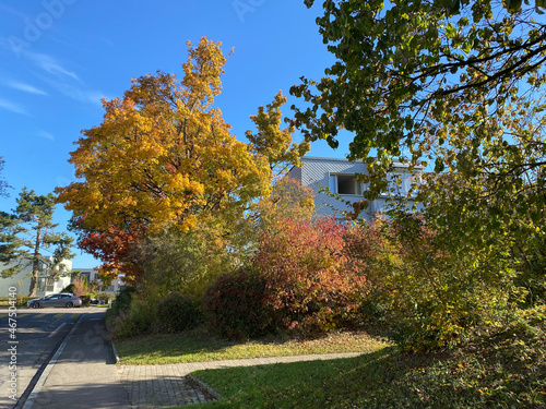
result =
[[[205,362],[311,353],[371,352],[388,346],[365,333],[336,333],[317,339],[268,338],[250,342],[217,339],[202,328],[183,334],[141,335],[116,340],[122,364]]]

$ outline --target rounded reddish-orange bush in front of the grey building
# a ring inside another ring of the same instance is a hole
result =
[[[357,323],[367,280],[345,250],[349,229],[334,219],[283,220],[261,234],[253,268],[286,329],[319,335]]]

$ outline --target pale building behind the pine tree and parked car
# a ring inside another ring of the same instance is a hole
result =
[[[0,270],[12,267],[16,263],[0,264]],[[33,268],[32,261],[24,261],[23,266],[23,269],[15,274],[13,277],[0,278],[0,297],[7,297],[10,287],[15,287],[17,289],[16,292],[19,296],[28,296],[28,290],[31,288],[31,273]],[[38,281],[36,282],[37,297],[60,292],[70,284],[69,273],[72,269],[72,261],[64,260],[61,263],[61,275],[56,277],[51,274],[51,268],[47,263],[39,263]]]

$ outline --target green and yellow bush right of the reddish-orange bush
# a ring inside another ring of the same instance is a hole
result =
[[[361,320],[385,329],[402,349],[454,347],[507,309],[513,285],[497,278],[507,260],[501,253],[456,251],[460,245],[450,248],[415,215],[358,229],[347,248],[369,280]]]

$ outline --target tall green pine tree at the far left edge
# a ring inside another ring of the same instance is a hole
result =
[[[62,262],[74,256],[70,252],[73,239],[56,232],[54,224],[55,196],[38,195],[26,188],[20,193],[13,214],[0,215],[0,256],[5,264],[2,277],[12,277],[26,266],[32,266],[28,296],[36,296],[40,265],[49,269],[48,276],[56,278],[63,272]],[[44,254],[48,252],[49,255]]]

